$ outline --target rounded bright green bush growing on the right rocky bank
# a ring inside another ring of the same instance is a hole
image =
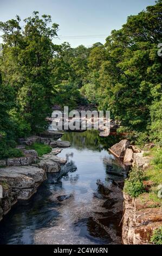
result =
[[[125,180],[124,191],[131,197],[138,197],[145,191],[143,180],[144,172],[137,167],[132,168],[128,179]]]

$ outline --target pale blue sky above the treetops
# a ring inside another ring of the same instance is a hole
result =
[[[138,14],[154,0],[0,0],[0,21],[12,19],[16,14],[22,20],[31,16],[34,10],[40,14],[50,14],[58,23],[60,36],[56,44],[68,41],[72,47],[90,46],[95,42],[105,42],[105,35],[112,29],[119,29],[127,16]],[[103,38],[68,39],[68,36],[103,35]],[[2,42],[2,39],[0,39]]]

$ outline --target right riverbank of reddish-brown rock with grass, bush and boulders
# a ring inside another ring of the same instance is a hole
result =
[[[126,245],[162,243],[161,149],[154,147],[151,143],[140,150],[123,140],[110,149],[131,167],[124,186],[122,217],[122,241]],[[159,230],[159,238],[154,238],[156,230]]]

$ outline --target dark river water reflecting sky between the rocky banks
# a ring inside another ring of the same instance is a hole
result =
[[[48,179],[0,223],[1,244],[120,244],[125,171],[105,149],[114,137],[67,132],[67,174]]]

